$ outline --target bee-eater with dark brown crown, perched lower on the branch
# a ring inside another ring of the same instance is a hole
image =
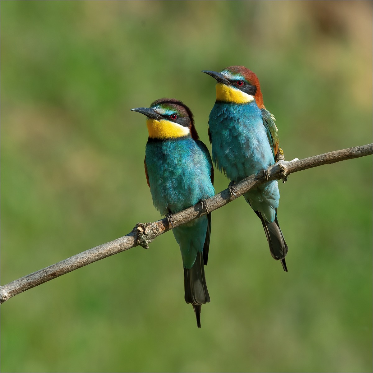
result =
[[[173,98],[160,98],[150,107],[132,111],[148,117],[145,148],[145,175],[154,207],[172,217],[214,195],[214,171],[209,150],[199,140],[193,114]],[[207,264],[211,213],[172,229],[180,246],[184,265],[185,301],[191,303],[201,327],[202,304],[210,302],[204,265]]]

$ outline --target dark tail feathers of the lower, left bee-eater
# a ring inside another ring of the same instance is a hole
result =
[[[185,302],[191,303],[197,319],[197,326],[201,327],[202,304],[210,302],[207,291],[203,253],[198,253],[192,268],[184,268]]]

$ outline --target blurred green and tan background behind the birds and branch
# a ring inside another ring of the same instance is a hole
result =
[[[1,1],[1,284],[159,219],[129,109],[178,98],[208,144],[229,65],[287,160],[372,142],[371,1]],[[213,213],[202,329],[167,233],[1,305],[1,372],[371,372],[372,157],[280,193],[289,273],[243,198]]]

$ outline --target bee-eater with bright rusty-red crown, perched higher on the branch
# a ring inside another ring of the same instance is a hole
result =
[[[216,102],[209,116],[212,157],[231,183],[264,171],[275,163],[279,151],[275,117],[266,110],[259,80],[244,66],[230,66],[221,72],[203,71],[216,79]],[[244,194],[260,218],[272,257],[288,272],[288,245],[279,227],[277,208],[280,193],[276,180],[261,184]]]

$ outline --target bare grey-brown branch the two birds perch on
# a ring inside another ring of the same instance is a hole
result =
[[[238,182],[235,185],[235,195],[231,195],[229,189],[225,189],[222,192],[214,195],[214,197],[204,201],[204,203],[209,211],[213,211],[235,200],[251,188],[255,188],[259,184],[266,181],[283,179],[285,182],[291,173],[306,170],[312,167],[322,166],[323,164],[368,156],[372,153],[373,144],[368,144],[332,151],[330,153],[320,154],[318,156],[301,160],[295,159],[291,162],[280,160],[278,163],[269,167],[268,173],[266,173],[265,176],[263,172],[260,175],[251,175],[248,178]],[[4,303],[9,298],[31,289],[34,286],[38,286],[51,279],[65,275],[68,272],[86,266],[94,261],[120,253],[121,251],[128,250],[131,247],[141,245],[142,247],[147,248],[148,244],[162,233],[167,232],[181,224],[190,222],[196,217],[203,216],[204,214],[206,214],[206,210],[202,207],[201,203],[197,203],[195,206],[173,214],[173,227],[169,225],[167,218],[158,220],[154,223],[138,223],[131,233],[128,233],[123,237],[117,238],[111,242],[107,242],[106,244],[96,246],[90,250],[83,251],[82,253],[76,254],[68,259],[62,260],[59,263],[53,264],[18,280],[12,281],[7,285],[1,286],[0,303]]]

